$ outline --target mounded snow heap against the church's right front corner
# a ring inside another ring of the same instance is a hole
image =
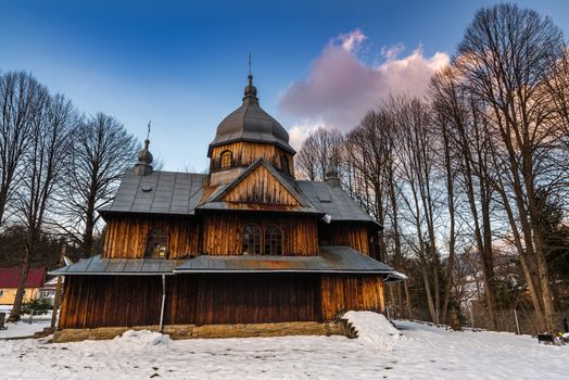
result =
[[[347,312],[343,316],[354,325],[362,343],[381,350],[392,350],[404,337],[382,315],[372,312]]]

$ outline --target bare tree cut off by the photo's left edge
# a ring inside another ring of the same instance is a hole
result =
[[[0,76],[0,227],[21,179],[34,118],[47,94],[46,88],[25,72]]]

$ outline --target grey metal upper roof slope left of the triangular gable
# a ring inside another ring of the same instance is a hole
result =
[[[202,198],[207,175],[197,173],[152,172],[146,176],[129,169],[113,203],[99,210],[109,213],[149,213],[193,215]]]

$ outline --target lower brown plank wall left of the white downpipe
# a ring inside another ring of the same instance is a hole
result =
[[[157,325],[160,276],[67,276],[59,327]]]

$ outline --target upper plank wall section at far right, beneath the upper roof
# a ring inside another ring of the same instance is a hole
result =
[[[369,255],[369,232],[366,224],[336,221],[329,225],[320,223],[318,239],[321,245],[347,245]]]

